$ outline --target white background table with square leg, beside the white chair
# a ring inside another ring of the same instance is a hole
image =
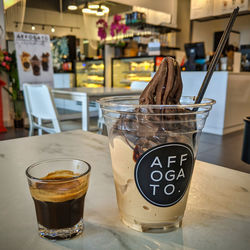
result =
[[[89,130],[89,103],[107,96],[140,95],[142,90],[123,88],[62,88],[51,90],[55,98],[79,101],[82,104],[82,130]]]

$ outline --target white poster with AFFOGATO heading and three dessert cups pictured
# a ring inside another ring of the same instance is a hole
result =
[[[49,35],[14,32],[20,89],[23,83],[53,87],[53,66]]]

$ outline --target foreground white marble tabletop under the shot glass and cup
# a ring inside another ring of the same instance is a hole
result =
[[[25,169],[75,157],[92,166],[85,232],[49,241],[38,236]],[[197,161],[181,229],[140,233],[119,220],[107,137],[81,130],[0,142],[0,249],[250,249],[250,175]]]

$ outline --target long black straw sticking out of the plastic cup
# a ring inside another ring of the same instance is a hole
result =
[[[212,75],[214,73],[215,66],[218,63],[218,61],[220,59],[220,56],[221,56],[221,53],[222,53],[222,51],[223,51],[223,49],[224,49],[224,47],[226,45],[227,39],[228,39],[228,37],[230,35],[230,32],[232,30],[232,27],[233,27],[233,24],[234,24],[234,21],[235,21],[237,15],[238,15],[238,12],[239,12],[239,7],[235,8],[233,13],[230,16],[230,20],[229,20],[229,22],[227,24],[227,27],[226,27],[226,29],[225,29],[225,31],[224,31],[221,39],[220,39],[219,45],[218,45],[218,47],[217,47],[217,49],[215,51],[215,54],[214,54],[214,56],[212,58],[212,61],[211,61],[210,65],[209,65],[207,74],[206,74],[206,76],[204,78],[204,81],[203,81],[203,83],[201,85],[199,93],[198,93],[198,95],[197,95],[197,97],[195,99],[195,104],[200,103],[202,101],[202,98],[203,98],[203,96],[204,96],[204,94],[206,92],[209,81],[210,81],[210,79],[211,79],[211,77],[212,77]],[[195,108],[194,110],[197,110],[197,108]]]

